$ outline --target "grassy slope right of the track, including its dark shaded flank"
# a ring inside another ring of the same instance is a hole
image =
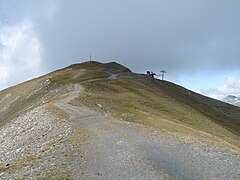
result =
[[[93,69],[96,68],[98,74],[97,66],[94,65]],[[101,70],[105,72],[104,68]],[[97,74],[91,69],[85,76],[95,77]],[[192,129],[199,130],[240,147],[240,108],[170,82],[130,72],[122,76],[114,80],[83,81],[86,93],[73,103],[166,131],[189,134]]]

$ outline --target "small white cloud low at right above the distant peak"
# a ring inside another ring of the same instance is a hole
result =
[[[222,99],[228,95],[240,96],[240,79],[229,77],[226,84],[201,90],[201,93],[215,99]]]

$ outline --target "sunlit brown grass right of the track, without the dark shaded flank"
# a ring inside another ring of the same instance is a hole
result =
[[[222,124],[216,123],[213,118],[188,104],[139,81],[96,81],[85,82],[83,85],[87,92],[75,100],[74,104],[85,105],[111,114],[114,118],[164,131],[186,135],[199,135],[199,131],[204,132],[240,147],[239,136],[236,133],[232,133]],[[97,104],[103,105],[104,108]]]

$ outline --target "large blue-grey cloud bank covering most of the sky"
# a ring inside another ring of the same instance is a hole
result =
[[[86,60],[90,53],[135,71],[164,68],[178,74],[240,65],[237,0],[4,2],[7,9],[16,3],[11,18],[33,19],[47,70]],[[49,2],[56,9],[48,19]]]

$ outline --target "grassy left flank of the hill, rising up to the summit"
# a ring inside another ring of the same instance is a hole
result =
[[[117,63],[101,64],[98,62],[86,62],[71,65],[1,91],[0,127],[29,108],[37,107],[54,98],[57,100],[58,96],[68,91],[68,88],[66,88],[68,85],[109,76],[112,72],[106,70],[106,68],[111,70],[107,66],[115,67],[115,71],[129,71]],[[79,72],[79,69],[87,69],[88,74],[73,78]],[[46,80],[50,80],[51,83],[44,84]],[[66,86],[64,87],[64,85]]]

